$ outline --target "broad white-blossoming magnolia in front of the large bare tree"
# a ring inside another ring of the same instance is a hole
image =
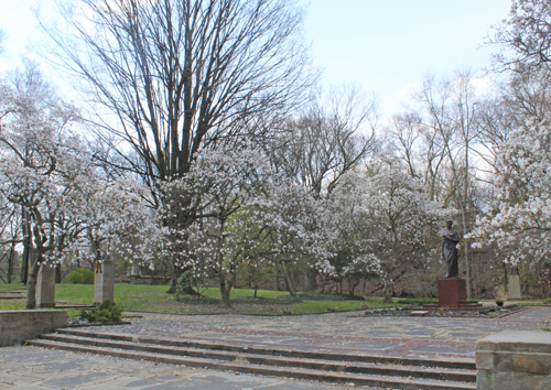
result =
[[[300,186],[276,184],[266,159],[253,149],[204,152],[188,174],[163,191],[171,199],[181,196],[181,202],[166,203],[163,218],[169,226],[175,226],[170,219],[177,221],[181,215],[188,219],[190,209],[201,212],[185,234],[179,228],[168,231],[168,250],[177,259],[174,266],[196,277],[214,275],[227,306],[240,264],[281,264],[289,281],[288,262],[322,254],[314,198]],[[328,267],[323,261],[316,266]]]

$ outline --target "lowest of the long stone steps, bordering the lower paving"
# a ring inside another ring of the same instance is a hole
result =
[[[97,343],[97,340],[96,340]],[[121,342],[119,342],[121,343]],[[316,380],[331,383],[350,383],[355,386],[368,386],[389,389],[410,389],[410,390],[474,390],[475,383],[429,380],[417,378],[399,378],[392,376],[363,375],[354,372],[335,372],[327,370],[315,370],[298,367],[273,367],[266,365],[257,365],[249,362],[241,354],[235,354],[233,361],[213,359],[213,358],[195,358],[187,356],[175,356],[153,351],[143,350],[127,350],[112,347],[101,346],[85,346],[66,342],[54,342],[50,339],[34,339],[29,342],[30,345],[64,349],[77,353],[89,353],[96,355],[107,355],[126,359],[149,360],[154,362],[183,365],[187,367],[209,368],[222,371],[234,371],[242,373],[255,373],[276,376],[284,378],[294,378],[302,380]],[[128,343],[137,344],[137,343]],[[159,347],[158,347],[159,348]]]

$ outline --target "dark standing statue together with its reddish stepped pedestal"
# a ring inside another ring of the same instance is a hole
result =
[[[442,259],[446,266],[446,277],[439,279],[439,301],[423,305],[428,310],[480,310],[479,303],[467,302],[465,280],[460,278],[457,243],[460,234],[453,229],[453,220],[446,220],[446,230],[442,232]]]

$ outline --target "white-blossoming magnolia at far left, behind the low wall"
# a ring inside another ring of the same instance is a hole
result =
[[[144,202],[134,187],[109,183],[94,166],[91,154],[74,136],[76,110],[55,96],[35,65],[26,64],[12,85],[2,85],[2,111],[0,193],[22,209],[30,236],[24,243],[34,259],[28,308],[35,306],[40,267],[71,259],[84,242],[91,251],[105,240],[128,248],[121,237],[147,231],[134,240],[132,254],[149,252],[149,238],[161,235],[152,234],[154,219]]]

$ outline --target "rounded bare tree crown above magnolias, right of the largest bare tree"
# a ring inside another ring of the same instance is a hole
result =
[[[268,144],[268,154],[277,170],[315,196],[331,193],[343,174],[376,150],[377,107],[377,98],[355,85],[331,88],[287,123]]]

